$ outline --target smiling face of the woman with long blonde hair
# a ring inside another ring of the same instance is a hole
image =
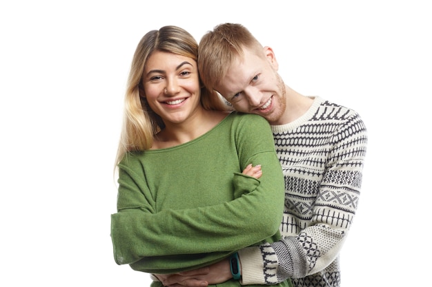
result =
[[[170,52],[155,51],[143,74],[144,91],[151,109],[164,123],[183,123],[201,107],[197,62]]]

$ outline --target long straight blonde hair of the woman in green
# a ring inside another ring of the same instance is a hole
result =
[[[124,100],[123,126],[115,159],[115,167],[128,151],[145,151],[153,145],[155,134],[165,125],[161,117],[148,105],[142,84],[144,66],[154,51],[170,52],[198,58],[198,44],[186,30],[168,25],[145,34],[132,58]],[[204,109],[224,110],[222,101],[215,100],[213,92],[202,88],[201,103]]]

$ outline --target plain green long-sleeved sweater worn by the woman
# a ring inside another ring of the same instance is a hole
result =
[[[242,174],[249,163],[262,164],[259,180]],[[260,116],[232,113],[185,144],[129,153],[118,182],[114,257],[134,270],[175,273],[280,238],[284,178]]]

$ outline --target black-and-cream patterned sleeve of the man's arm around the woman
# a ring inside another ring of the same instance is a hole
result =
[[[331,139],[311,223],[297,236],[239,251],[242,284],[270,285],[287,278],[306,277],[335,260],[357,209],[357,196],[353,194],[360,194],[366,142],[366,128],[355,114]],[[344,202],[344,209],[335,202]]]

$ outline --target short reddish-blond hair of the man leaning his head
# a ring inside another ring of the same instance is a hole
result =
[[[199,41],[198,70],[207,89],[213,91],[220,84],[245,48],[263,56],[261,43],[241,24],[220,24],[204,34]]]

